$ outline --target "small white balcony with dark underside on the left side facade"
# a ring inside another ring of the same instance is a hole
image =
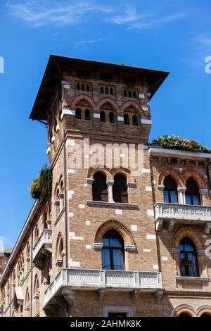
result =
[[[32,251],[32,261],[40,270],[44,266],[44,258],[52,253],[52,232],[49,229],[44,229],[41,236],[34,244]]]

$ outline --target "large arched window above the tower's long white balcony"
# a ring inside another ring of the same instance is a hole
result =
[[[124,242],[115,230],[108,230],[103,236],[103,270],[124,270]]]

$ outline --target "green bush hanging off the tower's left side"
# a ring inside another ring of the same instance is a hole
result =
[[[44,165],[41,168],[39,176],[34,179],[34,182],[30,186],[30,192],[32,199],[41,199],[46,197],[49,201],[51,200],[52,192],[52,168]]]

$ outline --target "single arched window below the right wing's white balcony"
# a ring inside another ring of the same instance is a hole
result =
[[[198,261],[196,247],[189,237],[184,237],[180,242],[180,273],[181,276],[198,277]]]

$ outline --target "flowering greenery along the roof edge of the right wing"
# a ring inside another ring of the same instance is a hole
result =
[[[152,144],[161,146],[164,149],[180,149],[181,151],[196,151],[203,153],[211,153],[211,149],[207,149],[203,145],[196,142],[196,140],[181,139],[174,135],[165,135],[153,139]]]

